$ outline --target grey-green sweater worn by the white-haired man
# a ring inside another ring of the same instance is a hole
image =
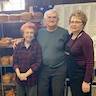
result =
[[[48,32],[46,28],[38,31],[37,39],[42,48],[44,65],[55,68],[64,64],[64,49],[68,37],[68,31],[61,27],[53,32]]]

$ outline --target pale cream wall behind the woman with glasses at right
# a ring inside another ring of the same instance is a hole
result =
[[[86,13],[88,17],[88,22],[85,27],[85,31],[92,37],[94,41],[94,51],[96,61],[96,3],[62,4],[62,5],[56,5],[54,9],[57,10],[60,17],[59,25],[67,29],[68,29],[69,16],[74,10],[80,9]]]

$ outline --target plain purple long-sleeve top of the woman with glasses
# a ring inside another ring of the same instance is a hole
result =
[[[70,48],[71,56],[74,58],[78,65],[83,67],[85,71],[84,81],[90,82],[92,79],[94,65],[93,41],[90,36],[83,31],[82,35],[78,37],[75,43],[72,45],[73,42],[74,40],[70,39],[67,44],[69,48],[72,46]]]

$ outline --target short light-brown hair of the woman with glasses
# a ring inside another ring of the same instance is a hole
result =
[[[81,11],[81,10],[75,10],[71,14],[71,16],[69,17],[69,22],[71,21],[71,18],[73,16],[79,18],[82,21],[82,23],[83,23],[84,26],[86,25],[86,23],[87,23],[87,16],[86,16],[86,14],[83,11]]]

